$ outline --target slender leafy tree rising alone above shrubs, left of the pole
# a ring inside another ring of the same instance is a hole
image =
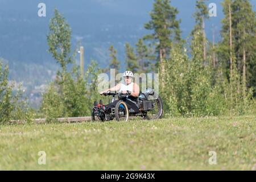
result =
[[[64,75],[67,72],[67,64],[71,63],[71,28],[63,15],[57,9],[49,24],[49,34],[47,36],[49,52],[61,66],[60,83],[64,82]]]

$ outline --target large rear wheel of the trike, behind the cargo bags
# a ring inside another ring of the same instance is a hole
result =
[[[161,98],[158,96],[158,98],[150,100],[152,102],[152,110],[147,111],[147,114],[144,116],[145,119],[151,120],[151,119],[159,119],[163,115],[163,102]]]

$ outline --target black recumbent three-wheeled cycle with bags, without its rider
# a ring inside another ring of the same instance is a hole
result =
[[[97,104],[94,102],[92,108],[92,121],[96,120],[96,117],[101,121],[110,121],[114,118],[117,121],[127,121],[129,117],[142,117],[143,119],[159,119],[163,115],[163,102],[158,94],[155,93],[154,89],[148,88],[144,92],[139,93],[139,97],[136,98],[136,101],[130,100],[131,92],[127,91],[126,94],[118,92],[106,92],[103,93],[104,96],[112,96],[110,102],[115,101],[115,96],[118,96],[118,102],[113,108],[105,106],[102,101]],[[126,100],[134,102],[138,107],[139,111],[134,111],[132,108],[128,108]]]

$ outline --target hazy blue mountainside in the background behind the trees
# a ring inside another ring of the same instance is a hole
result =
[[[38,4],[46,3],[46,17],[38,16]],[[111,44],[118,50],[118,59],[125,68],[125,43],[134,45],[148,31],[143,28],[150,19],[153,0],[0,0],[0,57],[9,60],[10,78],[23,82],[28,95],[36,85],[51,80],[57,69],[55,60],[47,51],[46,35],[49,19],[58,9],[72,28],[73,48],[78,40],[85,47],[85,68],[90,60],[101,67],[109,63],[108,48]],[[172,6],[179,10],[183,38],[193,28],[192,14],[196,0],[173,0]],[[208,1],[217,4],[217,17],[206,23],[209,40],[212,27],[216,27],[216,38],[223,18],[220,0]],[[256,1],[251,1],[256,5]],[[254,7],[255,9],[255,7]],[[79,56],[77,56],[79,59]]]

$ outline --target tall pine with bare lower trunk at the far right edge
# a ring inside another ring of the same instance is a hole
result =
[[[255,70],[247,70],[247,64],[256,64],[256,18],[248,0],[235,0],[232,4],[235,52],[238,69],[242,73],[243,97],[246,97],[247,71],[249,75]],[[255,77],[249,77],[255,80]],[[255,85],[254,85],[255,86]]]

